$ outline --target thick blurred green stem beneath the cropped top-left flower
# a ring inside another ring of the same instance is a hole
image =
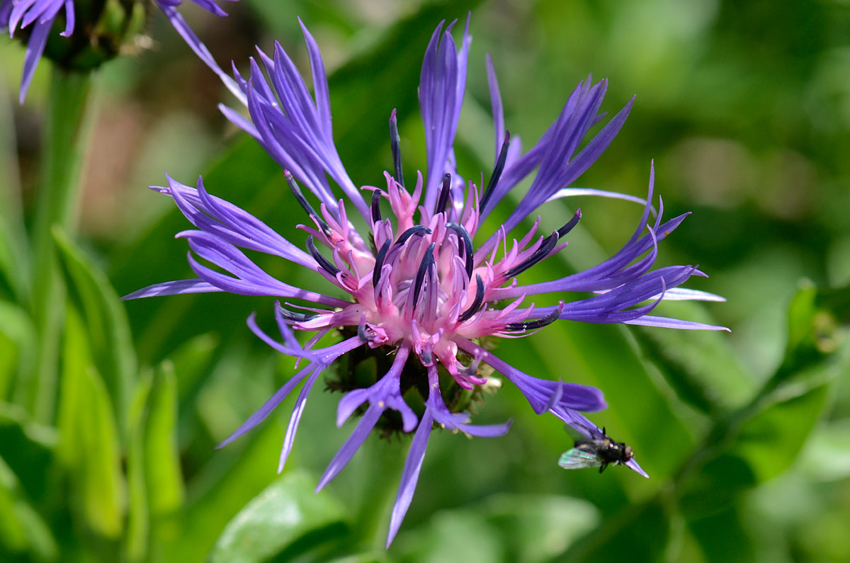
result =
[[[54,418],[59,370],[59,340],[65,316],[53,231],[77,230],[82,185],[80,171],[88,145],[88,100],[91,74],[54,66],[50,78],[47,127],[42,146],[42,180],[33,226],[33,316],[38,332],[36,367],[26,404],[35,418]]]

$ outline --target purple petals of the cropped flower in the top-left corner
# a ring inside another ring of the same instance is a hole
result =
[[[218,6],[217,2],[238,2],[238,0],[190,1],[208,12],[219,16],[225,16],[227,14]],[[65,13],[65,30],[59,35],[62,37],[71,37],[74,33],[74,29],[77,27],[77,12],[74,2],[75,0],[0,0],[0,28],[8,29],[9,37],[14,37],[14,32],[18,29],[23,30],[31,26],[30,37],[26,43],[24,70],[20,77],[19,99],[21,104],[24,103],[26,90],[30,87],[30,82],[36,72],[38,61],[41,60],[44,47],[48,43],[50,30],[53,28],[54,22],[59,18],[61,12],[64,11]],[[77,0],[77,2],[79,3],[80,0]],[[195,51],[195,54],[210,66],[213,71],[216,71],[225,85],[237,97],[240,97],[241,92],[235,88],[235,83],[218,67],[207,47],[201,43],[201,40],[177,11],[177,7],[183,3],[183,0],[155,0],[155,2],[166,14],[168,20],[171,21],[174,29],[184,38],[190,48]],[[94,17],[99,18],[100,14],[96,14]],[[94,22],[92,22],[92,26],[94,26]]]

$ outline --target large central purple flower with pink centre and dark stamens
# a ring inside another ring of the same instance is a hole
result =
[[[559,197],[587,193],[630,199],[565,186],[607,148],[626,120],[632,102],[579,150],[590,128],[604,117],[598,111],[606,88],[604,81],[581,82],[546,134],[523,154],[518,139],[509,142],[512,139],[504,128],[496,74],[488,60],[496,165],[487,187],[481,191],[473,182],[461,179],[455,170],[452,145],[465,89],[471,37],[467,20],[458,48],[451,28],[452,25],[443,31],[440,24],[433,32],[422,65],[419,100],[425,123],[428,175],[423,178],[422,173],[416,174],[412,193],[405,188],[393,111],[390,134],[394,174],[384,173],[385,187],[362,188],[371,192],[368,200],[361,196],[337,155],[331,133],[326,73],[309,31],[302,24],[313,71],[314,96],[310,96],[303,78],[279,44],[275,43],[273,57],[258,50],[259,64],[251,60],[248,79],[235,72],[251,121],[229,108],[223,110],[285,168],[286,180],[312,222],[312,225],[299,225],[308,234],[306,251],[241,208],[211,196],[201,179],[192,188],[168,178],[167,186],[153,189],[172,196],[196,228],[178,236],[187,239],[197,257],[226,273],[201,264],[190,253],[190,266],[197,278],[145,287],[124,298],[224,291],[308,302],[308,305],[275,305],[282,343],[264,333],[254,316],[248,319],[248,326],[264,342],[283,354],[297,357],[298,361],[306,361],[306,365],[221,444],[234,441],[259,424],[304,381],[286,429],[279,469],[292,448],[307,396],[320,372],[343,355],[356,358],[374,350],[372,357],[379,369],[375,383],[365,388],[343,386],[348,393],[339,401],[337,426],[342,426],[355,411],[362,412],[362,418],[331,460],[317,490],[343,469],[385,412],[396,412],[400,429],[416,432],[402,472],[387,545],[398,532],[411,503],[434,424],[478,436],[507,432],[510,422],[491,426],[468,424],[467,413],[458,412],[462,407],[450,407],[445,402],[445,396],[450,395],[445,395],[441,387],[445,389],[446,383],[465,390],[487,383],[488,372],[482,364],[517,385],[535,412],[552,412],[588,438],[603,436],[602,430],[581,414],[606,407],[601,391],[532,377],[485,349],[482,339],[526,336],[558,319],[723,329],[649,315],[662,299],[720,299],[709,293],[678,288],[690,276],[703,276],[693,266],[651,270],[658,242],[685,217],[662,223],[663,208],[659,205],[655,222],[649,223],[653,210],[652,168],[649,195],[645,201],[639,200],[644,204],[643,216],[634,235],[618,253],[574,275],[545,283],[519,284],[517,276],[566,246],[564,237],[581,219],[581,212],[577,211],[558,230],[536,236],[538,218],[530,232],[519,242],[514,239],[508,249],[508,236],[513,228],[536,208]],[[535,168],[539,168],[536,178],[507,223],[490,236],[480,233],[481,221],[487,213]],[[328,177],[339,186],[348,202],[334,195]],[[318,199],[318,211],[300,190],[296,178]],[[348,208],[354,208],[360,215],[355,220],[367,225],[365,236],[348,219]],[[642,235],[643,230],[646,234]],[[476,237],[484,241],[477,249],[473,245]],[[320,247],[325,248],[325,253]],[[273,254],[314,270],[336,287],[333,293],[346,297],[340,299],[275,279],[240,248]],[[576,292],[594,295],[567,301]],[[547,307],[524,304],[527,296],[541,293],[553,295],[553,300],[559,303]],[[506,300],[508,304],[501,306]],[[292,328],[312,332],[314,336],[306,344],[299,344]],[[331,332],[339,334],[342,340],[317,348],[320,338]],[[422,395],[423,403],[417,405],[421,407],[418,417],[402,398],[402,395],[409,397],[406,392],[411,389]],[[646,475],[633,459],[627,465]]]

